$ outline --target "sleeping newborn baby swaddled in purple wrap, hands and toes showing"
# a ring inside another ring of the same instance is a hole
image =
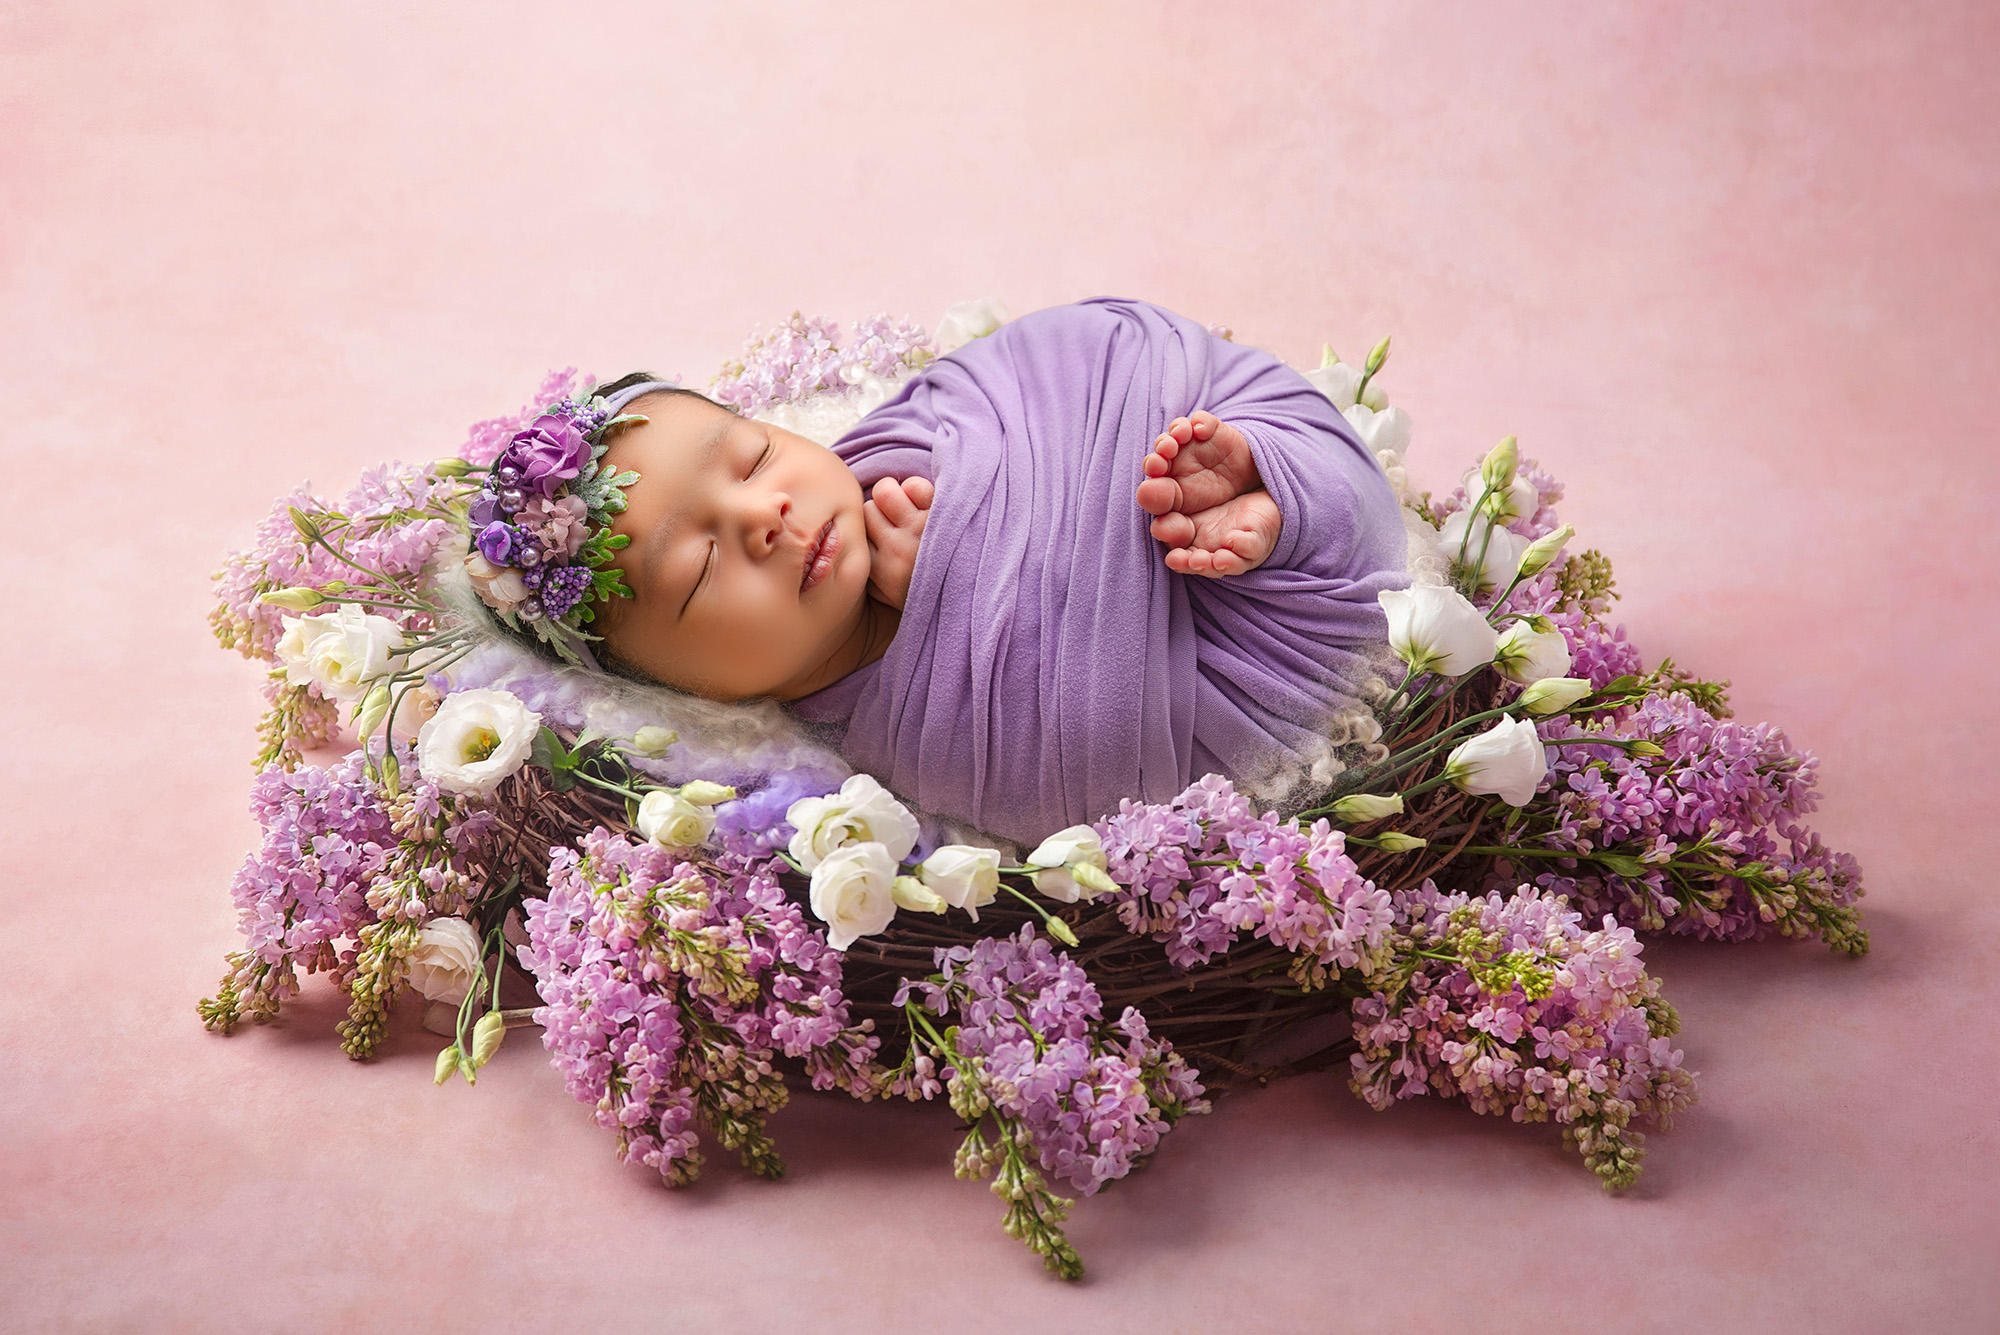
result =
[[[600,658],[776,695],[858,769],[1034,841],[1324,753],[1402,588],[1396,498],[1298,372],[1142,302],[934,362],[832,450],[708,400],[644,424]]]

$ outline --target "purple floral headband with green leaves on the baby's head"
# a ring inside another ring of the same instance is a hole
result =
[[[534,636],[566,664],[594,662],[588,642],[598,636],[584,626],[596,620],[598,600],[632,596],[612,566],[630,540],[612,534],[610,522],[638,474],[602,460],[612,428],[646,420],[624,406],[662,388],[646,382],[610,398],[586,388],[548,404],[514,432],[472,498],[472,592],[508,630]]]

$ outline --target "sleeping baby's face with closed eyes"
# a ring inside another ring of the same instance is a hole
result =
[[[638,470],[612,532],[632,598],[612,654],[710,699],[796,699],[854,636],[868,598],[862,488],[832,450],[696,398],[632,404],[604,460]]]

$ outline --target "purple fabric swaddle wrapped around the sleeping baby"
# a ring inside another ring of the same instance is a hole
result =
[[[1284,518],[1258,570],[1166,570],[1134,502],[1166,424],[1238,428]],[[1310,755],[1408,584],[1396,496],[1270,354],[1144,302],[1024,316],[834,444],[862,486],[936,482],[888,654],[794,703],[918,805],[1016,839],[1208,771]]]

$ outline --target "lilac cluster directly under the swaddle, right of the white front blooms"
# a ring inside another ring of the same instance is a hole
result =
[[[1170,803],[1126,799],[1096,829],[1120,919],[1178,969],[1248,929],[1296,955],[1300,985],[1320,987],[1332,969],[1368,967],[1388,939],[1388,893],[1360,875],[1338,829],[1258,815],[1220,775]]]

